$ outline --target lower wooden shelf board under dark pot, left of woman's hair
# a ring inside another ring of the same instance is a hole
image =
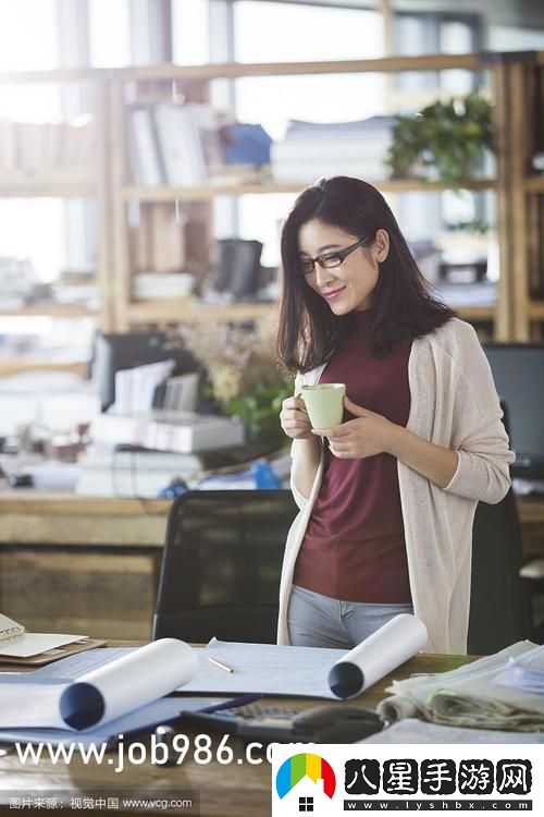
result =
[[[184,301],[143,301],[133,303],[128,307],[128,320],[137,324],[176,324],[181,320],[212,320],[217,322],[228,320],[252,320],[270,315],[273,304],[240,303],[240,304],[199,304]]]

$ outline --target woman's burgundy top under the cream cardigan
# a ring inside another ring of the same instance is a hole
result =
[[[387,357],[373,357],[356,313],[351,343],[323,370],[320,382],[346,383],[357,405],[406,426],[410,413],[411,342],[398,341]],[[353,415],[344,412],[344,422]],[[398,488],[391,454],[341,460],[325,443],[321,488],[300,546],[294,584],[344,601],[411,602]]]

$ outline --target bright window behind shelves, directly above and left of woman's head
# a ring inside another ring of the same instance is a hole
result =
[[[383,57],[383,21],[374,11],[292,3],[234,3],[238,62],[301,62]],[[289,119],[337,122],[385,112],[383,74],[245,77],[235,83],[236,115],[259,122],[273,139]],[[264,244],[262,263],[279,264],[279,230],[294,195],[245,196],[239,234]]]

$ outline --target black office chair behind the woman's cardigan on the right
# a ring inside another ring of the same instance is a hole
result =
[[[508,412],[502,401],[509,434]],[[530,601],[519,575],[521,527],[512,489],[497,504],[479,502],[472,528],[468,653],[490,655],[531,636]]]

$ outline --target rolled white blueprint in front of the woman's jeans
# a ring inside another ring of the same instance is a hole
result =
[[[338,698],[353,698],[412,658],[428,641],[422,621],[401,613],[347,654],[331,668],[329,686]]]

